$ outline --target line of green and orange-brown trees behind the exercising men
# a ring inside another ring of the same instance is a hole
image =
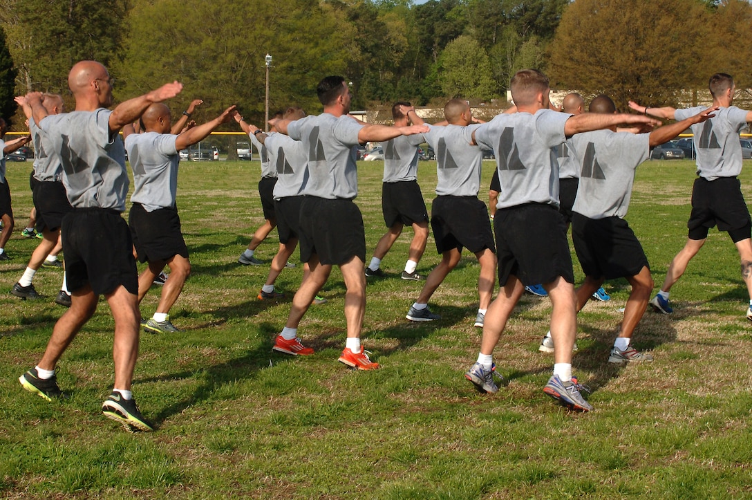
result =
[[[66,77],[80,59],[108,66],[116,99],[180,80],[175,105],[203,98],[199,120],[237,103],[256,123],[266,53],[270,108],[311,113],[326,74],[352,82],[353,109],[504,103],[521,68],[547,72],[555,88],[608,92],[625,108],[630,98],[675,104],[717,71],[739,88],[752,74],[744,0],[0,0],[0,27],[5,117],[12,97],[32,89],[72,102]]]

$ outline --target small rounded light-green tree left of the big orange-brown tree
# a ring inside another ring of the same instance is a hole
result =
[[[446,97],[490,98],[491,64],[485,50],[468,35],[450,42],[441,53],[441,89]]]

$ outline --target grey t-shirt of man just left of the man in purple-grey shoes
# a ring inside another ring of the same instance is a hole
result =
[[[436,152],[437,195],[478,196],[483,151],[471,144],[472,130],[477,128],[429,125],[429,131],[423,135]]]

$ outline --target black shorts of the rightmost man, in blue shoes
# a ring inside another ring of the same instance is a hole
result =
[[[690,240],[708,238],[708,229],[713,226],[718,226],[718,231],[728,232],[734,243],[750,238],[750,212],[736,177],[716,180],[698,177],[695,180],[692,213],[687,223]]]

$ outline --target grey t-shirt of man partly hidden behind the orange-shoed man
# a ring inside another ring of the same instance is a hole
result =
[[[269,160],[277,171],[277,183],[274,184],[274,199],[297,196],[300,194],[306,173],[308,156],[301,141],[284,134],[269,135],[264,141]]]

